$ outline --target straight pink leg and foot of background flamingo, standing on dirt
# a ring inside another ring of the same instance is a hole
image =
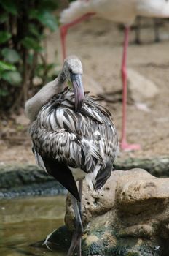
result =
[[[130,28],[125,28],[125,42],[123,48],[123,56],[122,56],[122,140],[121,140],[121,148],[126,151],[138,150],[141,148],[138,144],[128,144],[126,140],[126,113],[127,113],[127,46],[128,46],[128,34]]]

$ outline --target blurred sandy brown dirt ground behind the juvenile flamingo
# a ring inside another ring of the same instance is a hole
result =
[[[147,105],[149,112],[135,105],[127,105],[127,140],[139,143],[140,151],[124,152],[119,157],[167,156],[169,152],[169,24],[160,31],[162,42],[154,43],[152,27],[141,31],[143,44],[133,44],[130,33],[127,67],[135,69],[152,80],[159,94]],[[120,64],[122,59],[123,31],[114,23],[91,19],[71,29],[68,33],[68,54],[76,54],[84,65],[84,86],[93,94],[113,93],[122,88]],[[48,34],[47,59],[62,64],[58,31]],[[122,102],[103,102],[114,116],[117,131],[121,134]],[[34,163],[28,121],[24,114],[1,122],[0,165],[13,162]]]

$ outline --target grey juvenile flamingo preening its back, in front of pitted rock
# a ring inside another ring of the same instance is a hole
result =
[[[68,80],[73,89],[65,88]],[[76,56],[68,57],[58,78],[25,103],[25,113],[37,164],[71,193],[75,230],[67,256],[75,249],[81,256],[82,181],[98,190],[111,176],[118,152],[114,123],[109,111],[84,93],[82,63]]]

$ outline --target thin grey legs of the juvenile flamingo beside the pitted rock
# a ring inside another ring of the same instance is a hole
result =
[[[78,249],[80,249],[80,251],[78,250],[78,256],[81,256],[81,243],[79,246],[79,240],[81,239],[82,236],[82,232],[83,232],[83,225],[82,225],[82,219],[79,213],[79,206],[77,203],[76,198],[71,195],[71,202],[74,208],[74,216],[75,216],[75,230],[73,233],[73,236],[71,238],[71,246],[68,249],[68,254],[67,256],[71,256],[74,253],[74,250],[76,249],[76,246],[78,246]]]

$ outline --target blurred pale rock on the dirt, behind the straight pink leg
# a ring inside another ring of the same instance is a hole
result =
[[[149,102],[159,93],[159,89],[151,80],[144,78],[133,69],[127,69],[128,97],[135,103]]]

